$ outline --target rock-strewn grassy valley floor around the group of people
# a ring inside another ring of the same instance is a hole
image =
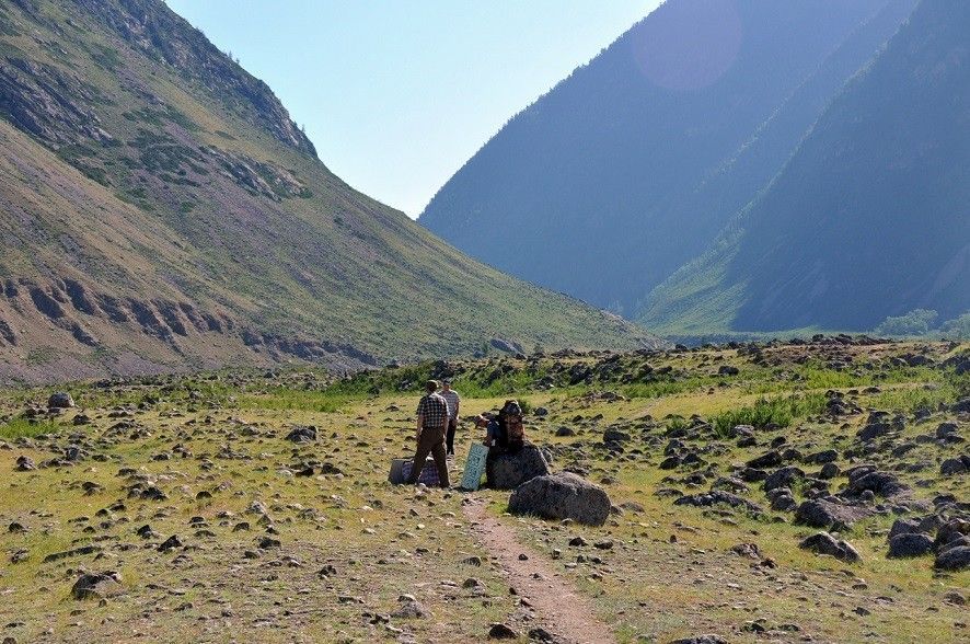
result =
[[[968,352],[820,336],[7,390],[0,626],[14,642],[568,642],[575,610],[604,642],[954,642]],[[453,474],[481,439],[471,415],[517,398],[552,471],[609,494],[605,525],[388,483],[429,377],[463,396]],[[76,406],[48,410],[59,390]],[[820,532],[841,559],[799,548]],[[911,556],[888,556],[897,533]],[[536,573],[575,608],[531,600]]]

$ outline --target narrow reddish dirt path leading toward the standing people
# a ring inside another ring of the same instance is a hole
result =
[[[472,532],[501,565],[509,585],[535,610],[539,625],[570,644],[614,644],[610,629],[592,612],[573,585],[542,556],[519,543],[515,532],[485,511],[485,502],[469,498],[462,506]],[[520,554],[528,556],[526,561]]]

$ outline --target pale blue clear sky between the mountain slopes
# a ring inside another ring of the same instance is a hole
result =
[[[320,159],[417,217],[516,113],[660,0],[168,0],[266,81]]]

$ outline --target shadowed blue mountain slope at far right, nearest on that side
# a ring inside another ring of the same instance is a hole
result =
[[[643,314],[680,331],[866,330],[970,310],[970,3],[923,0],[783,172]]]

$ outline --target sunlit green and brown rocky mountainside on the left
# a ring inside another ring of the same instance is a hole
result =
[[[0,3],[0,379],[653,342],[354,191],[161,0]]]

